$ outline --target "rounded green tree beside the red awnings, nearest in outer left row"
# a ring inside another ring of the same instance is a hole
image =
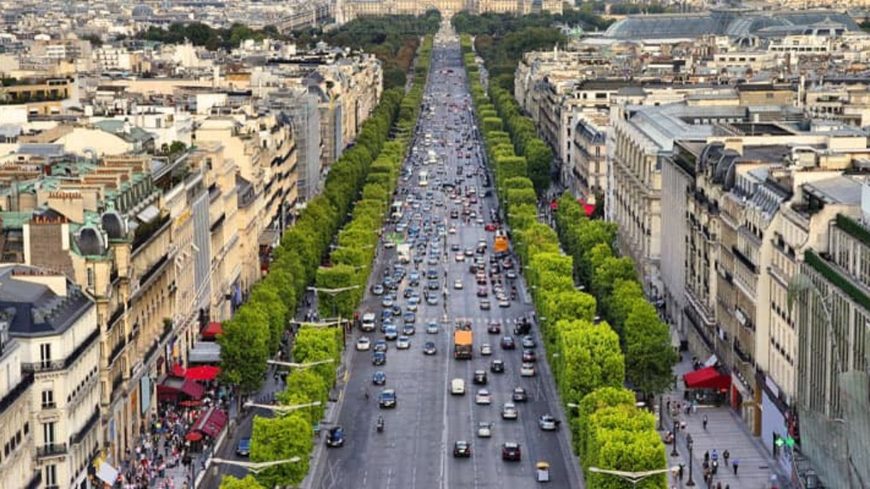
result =
[[[269,359],[269,320],[257,307],[242,306],[223,324],[221,379],[238,385],[243,393],[256,392],[266,375]]]

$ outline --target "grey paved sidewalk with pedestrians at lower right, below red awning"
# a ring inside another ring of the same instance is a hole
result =
[[[672,429],[674,418],[668,411],[666,405],[670,400],[673,409],[673,403],[679,402],[685,406],[686,401],[683,399],[682,377],[683,374],[692,370],[691,361],[687,358],[688,354],[683,352],[683,358],[679,364],[674,367],[674,373],[680,379],[677,382],[678,387],[665,394],[663,403],[664,417],[662,425],[664,432]],[[707,429],[703,427],[704,416],[707,416]],[[686,421],[686,430],[682,431],[677,436],[677,451],[679,456],[672,457],[671,451],[673,446],[666,445],[668,453],[668,464],[673,467],[679,464],[685,464],[685,476],[682,481],[677,480],[672,482],[677,487],[685,487],[685,483],[689,480],[689,451],[686,446],[686,434],[691,434],[693,446],[693,472],[695,479],[695,487],[706,488],[704,483],[704,453],[712,454],[715,449],[719,453],[719,470],[713,477],[711,487],[718,487],[717,483],[722,484],[722,487],[730,487],[730,489],[783,489],[789,487],[788,478],[784,474],[777,473],[773,467],[776,467],[770,454],[761,446],[761,442],[753,437],[746,425],[729,407],[713,407],[713,406],[698,406],[697,412],[686,415],[685,409],[676,416],[676,421]],[[735,460],[739,462],[737,475],[732,470],[732,463],[725,465],[725,460],[722,453],[728,450],[731,452],[730,462]],[[673,479],[671,479],[673,481]]]

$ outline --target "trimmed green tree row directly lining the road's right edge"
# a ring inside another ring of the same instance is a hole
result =
[[[496,189],[507,211],[514,250],[526,265],[523,269],[539,313],[556,386],[562,402],[581,406],[569,424],[583,465],[628,471],[664,468],[667,463],[664,446],[652,417],[635,407],[634,394],[623,387],[631,361],[626,361],[620,336],[607,321],[596,320],[599,301],[576,287],[574,256],[564,254],[556,232],[537,220],[537,195],[532,179],[536,170],[518,153],[537,144],[534,141],[543,142],[534,135],[534,126],[528,132],[519,128],[524,123],[516,123],[519,111],[510,108],[515,107],[515,102],[508,100],[512,99],[509,93],[495,85],[486,93],[480,83],[471,39],[464,35],[460,44]],[[505,123],[500,117],[502,113],[514,117],[515,125]],[[603,273],[604,270],[602,278]],[[605,405],[599,398],[608,401],[613,398],[613,406]],[[605,408],[613,408],[613,412]],[[620,424],[622,421],[625,423]],[[587,480],[596,482],[590,482],[590,487],[616,488],[626,484],[588,471]],[[660,475],[645,480],[640,487],[661,488],[666,484],[666,477]]]

